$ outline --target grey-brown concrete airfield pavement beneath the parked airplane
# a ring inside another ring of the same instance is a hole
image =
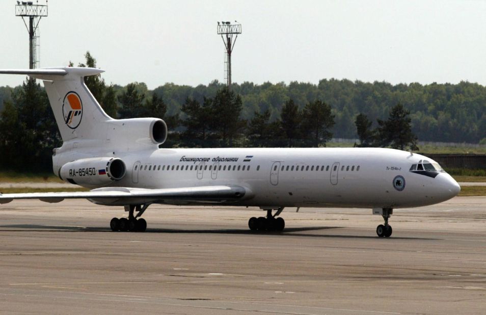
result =
[[[153,205],[145,233],[84,200],[0,205],[0,314],[483,314],[486,198],[396,209],[286,208],[286,230],[248,230],[256,208]]]

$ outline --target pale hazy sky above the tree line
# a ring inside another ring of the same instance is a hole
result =
[[[15,5],[0,1],[0,69],[29,67]],[[38,67],[77,65],[89,50],[109,84],[224,82],[217,22],[235,20],[242,25],[232,54],[236,83],[486,85],[486,1],[49,0]],[[0,75],[0,86],[23,80]]]

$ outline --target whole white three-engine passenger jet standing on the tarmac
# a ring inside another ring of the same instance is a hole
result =
[[[85,192],[18,193],[14,199],[60,202],[85,198],[123,206],[113,231],[145,231],[151,204],[259,207],[251,230],[282,231],[284,208],[369,208],[381,215],[379,237],[390,237],[393,209],[436,204],[461,187],[426,156],[389,148],[159,148],[168,135],[159,118],[114,119],[84,82],[104,72],[60,67],[0,70],[43,80],[63,144],[53,149],[53,172],[91,188]]]

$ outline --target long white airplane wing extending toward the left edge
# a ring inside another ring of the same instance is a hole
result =
[[[60,202],[64,199],[88,199],[103,205],[128,205],[145,203],[225,203],[250,199],[252,192],[242,186],[200,186],[164,189],[106,187],[89,192],[52,192],[0,194],[0,203],[14,199],[39,199],[45,202]]]

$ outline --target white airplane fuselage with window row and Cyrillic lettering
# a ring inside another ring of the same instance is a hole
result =
[[[101,153],[100,156],[103,154]],[[233,205],[398,208],[434,204],[460,187],[445,172],[410,172],[420,154],[384,148],[156,149],[116,154],[126,175],[110,186],[146,189],[238,185]],[[394,180],[402,176],[403,187]]]

